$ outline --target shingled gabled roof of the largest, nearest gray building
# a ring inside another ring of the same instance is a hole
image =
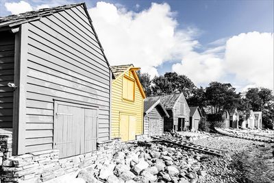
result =
[[[99,44],[99,47],[103,53],[103,57],[105,58],[105,62],[107,62],[108,66],[110,67],[110,64],[108,62],[108,59],[105,57],[105,53],[103,52],[103,47],[101,45],[101,42],[99,41],[99,38],[95,32],[95,28],[92,25],[92,21],[90,19],[90,15],[88,14],[88,10],[86,8],[86,3],[75,3],[75,4],[71,4],[71,5],[61,5],[61,6],[57,6],[57,7],[53,7],[53,8],[42,8],[40,10],[36,10],[36,11],[31,11],[31,12],[24,12],[21,14],[12,14],[9,16],[0,16],[0,27],[10,27],[10,28],[15,28],[18,27],[19,25],[23,24],[23,23],[27,23],[27,22],[31,22],[31,21],[38,21],[39,19],[41,19],[42,17],[45,16],[50,16],[54,13],[57,12],[61,12],[67,9],[71,9],[77,6],[82,6],[82,8],[84,8],[84,11],[86,12],[86,16],[87,19],[90,23],[90,26],[92,28],[92,31],[95,34],[95,37],[97,39],[97,42]],[[113,75],[113,73],[112,73]]]

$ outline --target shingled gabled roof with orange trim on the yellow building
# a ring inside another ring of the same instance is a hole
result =
[[[114,80],[112,82],[115,82],[119,77],[121,77],[125,72],[132,71],[134,78],[136,80],[136,83],[138,85],[138,88],[140,90],[140,93],[142,97],[145,99],[145,92],[142,89],[142,84],[140,83],[139,77],[136,73],[136,70],[139,70],[140,68],[134,67],[133,64],[126,64],[126,65],[118,65],[118,66],[110,66],[110,69],[112,70],[112,73],[114,75]]]

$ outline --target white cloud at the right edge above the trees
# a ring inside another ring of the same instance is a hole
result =
[[[233,36],[226,43],[225,66],[238,80],[273,88],[273,45],[273,33],[249,32]]]

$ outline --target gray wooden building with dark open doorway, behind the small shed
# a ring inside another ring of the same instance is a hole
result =
[[[189,128],[190,109],[183,93],[149,97],[150,100],[160,99],[169,117],[164,117],[164,131],[183,131]]]

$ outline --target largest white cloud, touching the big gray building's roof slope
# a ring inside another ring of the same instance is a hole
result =
[[[176,29],[175,12],[167,3],[151,3],[149,9],[136,13],[98,2],[88,12],[112,65],[133,63],[154,76],[156,66],[181,58],[198,44],[192,40],[195,30]]]

